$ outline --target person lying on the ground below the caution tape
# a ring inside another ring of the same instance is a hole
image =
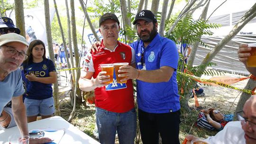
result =
[[[197,118],[197,126],[221,131],[228,122],[233,120],[233,117],[233,114],[223,115],[214,108],[202,109]]]

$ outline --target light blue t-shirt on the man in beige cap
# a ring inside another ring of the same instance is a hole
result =
[[[12,97],[24,93],[20,69],[10,72],[7,77],[0,81],[0,113]]]

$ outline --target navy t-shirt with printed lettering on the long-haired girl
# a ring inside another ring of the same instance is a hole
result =
[[[23,64],[24,73],[34,73],[37,77],[49,77],[49,72],[56,72],[53,61],[44,59],[40,63]],[[53,96],[52,84],[27,81],[27,99],[48,99]]]

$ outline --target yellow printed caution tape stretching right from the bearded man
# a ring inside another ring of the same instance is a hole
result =
[[[212,81],[212,80],[207,80],[207,79],[202,79],[202,78],[200,78],[200,77],[197,77],[197,76],[194,76],[194,75],[190,75],[190,74],[187,74],[187,73],[183,73],[183,72],[178,72],[178,73],[181,74],[181,75],[184,75],[184,76],[186,76],[186,77],[195,79],[195,80],[199,80],[199,81],[202,81],[202,82],[210,82],[210,83],[218,84],[218,85],[221,86],[221,87],[225,87],[225,88],[229,88],[229,89],[233,89],[233,90],[240,90],[240,91],[246,92],[247,94],[252,94],[252,95],[254,95],[254,92],[253,92],[252,90],[240,89],[240,88],[237,88],[237,87],[234,87],[234,86],[231,86],[231,85],[222,83],[222,82]]]

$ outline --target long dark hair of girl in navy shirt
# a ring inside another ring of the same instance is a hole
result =
[[[33,40],[28,48],[27,48],[27,59],[23,62],[24,64],[29,64],[29,63],[32,63],[33,62],[33,55],[32,55],[32,50],[33,48],[36,46],[36,45],[43,45],[44,47],[44,54],[43,54],[43,59],[46,59],[46,46],[44,44],[44,42],[42,42],[41,40],[39,39],[36,39],[36,40]]]

